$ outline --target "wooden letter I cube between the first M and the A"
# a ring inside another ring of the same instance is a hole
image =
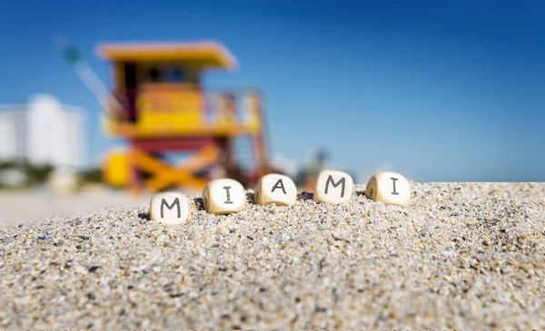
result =
[[[243,184],[230,179],[209,181],[204,186],[203,205],[207,212],[216,215],[243,210],[246,207]]]

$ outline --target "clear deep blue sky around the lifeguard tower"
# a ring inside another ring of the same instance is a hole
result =
[[[358,181],[545,181],[544,15],[542,1],[4,1],[0,103],[83,107],[97,164],[123,141],[52,35],[108,84],[98,44],[216,40],[240,68],[204,85],[263,92],[275,159],[322,148]]]

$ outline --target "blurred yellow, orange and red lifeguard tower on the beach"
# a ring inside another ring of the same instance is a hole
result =
[[[104,130],[127,141],[125,151],[110,151],[104,160],[107,183],[134,193],[196,191],[220,177],[253,185],[269,172],[259,93],[201,86],[204,71],[236,68],[221,44],[105,44],[98,53],[110,63],[113,81]],[[245,146],[237,145],[241,139]],[[242,160],[237,146],[250,160]],[[171,159],[179,153],[187,154],[184,160]]]

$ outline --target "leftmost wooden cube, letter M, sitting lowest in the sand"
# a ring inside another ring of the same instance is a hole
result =
[[[150,200],[150,219],[165,224],[180,224],[189,218],[189,200],[178,192],[156,193]]]

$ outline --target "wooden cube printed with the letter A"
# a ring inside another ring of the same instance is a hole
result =
[[[291,206],[297,200],[297,187],[291,178],[276,173],[263,176],[255,186],[253,201],[260,205]]]

